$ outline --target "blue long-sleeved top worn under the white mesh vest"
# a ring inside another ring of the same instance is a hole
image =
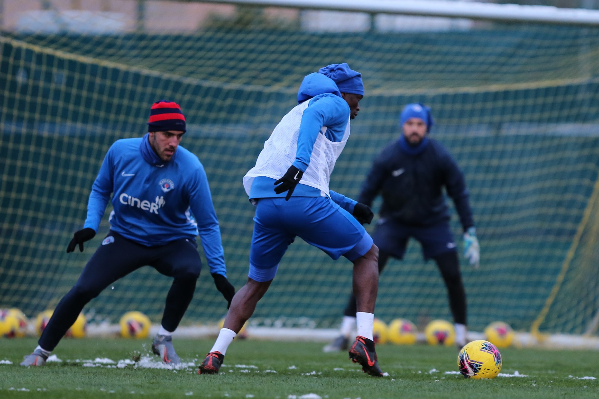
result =
[[[301,124],[299,125],[297,153],[295,162],[292,164],[302,172],[310,163],[310,157],[314,148],[314,143],[323,126],[326,126],[325,137],[333,142],[343,140],[343,135],[349,121],[349,106],[346,100],[331,93],[325,93],[314,96],[308,100],[308,107],[302,114]],[[285,197],[287,192],[276,194],[273,190],[275,179],[266,176],[260,176],[254,179],[250,198],[272,198]],[[294,190],[294,197],[320,197],[322,193],[318,188],[310,187],[305,184],[298,184]],[[330,191],[331,199],[341,208],[352,213],[356,201],[343,194]]]

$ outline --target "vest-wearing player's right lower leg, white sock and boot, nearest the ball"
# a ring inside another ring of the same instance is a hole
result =
[[[379,248],[373,244],[370,251],[353,261],[353,293],[358,313],[358,336],[349,349],[349,358],[359,363],[362,371],[382,377],[373,341],[374,304],[379,290]]]

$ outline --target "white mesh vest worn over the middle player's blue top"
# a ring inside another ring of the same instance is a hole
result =
[[[286,114],[283,119],[274,128],[273,134],[264,142],[256,166],[252,167],[243,177],[243,186],[246,193],[250,195],[252,181],[258,176],[267,176],[273,179],[279,179],[295,162],[297,153],[299,124],[304,110],[308,107],[308,101],[295,106]],[[329,195],[329,177],[335,167],[337,158],[343,151],[347,138],[349,138],[349,120],[343,140],[332,142],[325,137],[326,126],[320,129],[320,133],[314,142],[314,148],[310,157],[310,165],[304,172],[304,176],[299,184],[309,185],[320,190],[321,193]]]

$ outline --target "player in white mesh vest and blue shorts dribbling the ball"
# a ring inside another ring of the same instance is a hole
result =
[[[373,342],[379,250],[361,224],[370,223],[373,212],[329,190],[329,176],[349,138],[349,119],[358,115],[363,96],[361,75],[347,63],[307,75],[299,87],[299,105],[277,124],[256,166],[244,176],[246,193],[256,205],[249,278],[235,294],[199,374],[218,373],[226,349],[252,316],[283,254],[299,236],[333,259],[343,255],[353,262],[358,337],[349,357],[366,373],[383,375]]]

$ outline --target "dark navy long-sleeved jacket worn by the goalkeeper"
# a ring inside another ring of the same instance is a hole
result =
[[[381,218],[408,226],[431,226],[449,221],[445,187],[466,231],[474,221],[464,175],[443,145],[434,139],[422,144],[419,153],[405,141],[388,145],[374,160],[358,202],[372,206],[381,194]]]

